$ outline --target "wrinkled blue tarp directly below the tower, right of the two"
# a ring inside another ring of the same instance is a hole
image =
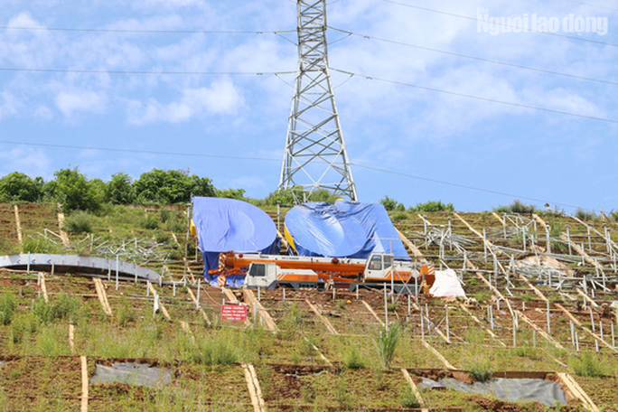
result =
[[[287,212],[286,229],[300,256],[367,258],[381,252],[409,260],[381,204],[304,203]]]

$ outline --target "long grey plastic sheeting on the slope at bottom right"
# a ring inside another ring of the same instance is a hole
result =
[[[419,389],[446,388],[459,392],[473,393],[493,397],[506,402],[539,402],[549,407],[566,405],[566,395],[557,382],[545,379],[508,379],[493,378],[472,385],[454,378],[439,381],[423,378]]]

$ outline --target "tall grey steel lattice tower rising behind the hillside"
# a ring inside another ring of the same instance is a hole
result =
[[[297,0],[298,71],[279,189],[328,189],[358,201],[332,93],[326,0]]]

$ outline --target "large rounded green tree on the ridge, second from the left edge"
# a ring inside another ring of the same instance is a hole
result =
[[[55,180],[43,187],[45,196],[62,203],[65,211],[97,211],[101,205],[98,188],[100,184],[89,184],[79,169],[61,169],[53,173]],[[102,183],[102,182],[101,182]]]

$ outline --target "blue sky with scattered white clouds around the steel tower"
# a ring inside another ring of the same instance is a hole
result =
[[[618,211],[618,5],[327,9],[360,201]],[[182,169],[267,196],[281,173],[295,25],[293,0],[3,0],[0,175]]]

